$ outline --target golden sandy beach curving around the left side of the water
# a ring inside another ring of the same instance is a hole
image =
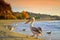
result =
[[[21,20],[0,20],[0,40],[47,40],[45,38],[36,39],[30,35],[25,35],[10,31],[4,27],[4,24],[14,24],[21,22]]]

